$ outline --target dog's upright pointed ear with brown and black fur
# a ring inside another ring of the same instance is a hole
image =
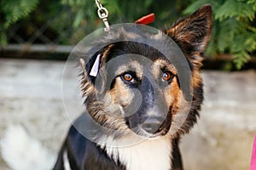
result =
[[[166,34],[177,42],[187,56],[201,54],[207,47],[212,31],[212,7],[207,4],[183,20],[177,20]]]

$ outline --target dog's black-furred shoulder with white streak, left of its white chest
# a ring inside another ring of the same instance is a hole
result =
[[[115,170],[124,169],[124,167],[120,163],[116,164],[104,150],[94,142],[86,139],[83,134],[79,133],[76,127],[72,126],[61,148],[54,169]]]

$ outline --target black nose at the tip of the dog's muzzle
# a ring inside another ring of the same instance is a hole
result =
[[[149,118],[143,122],[142,127],[147,133],[157,133],[163,124],[164,120],[162,118]]]

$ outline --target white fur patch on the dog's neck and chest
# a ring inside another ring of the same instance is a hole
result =
[[[100,147],[127,170],[169,170],[172,167],[172,141],[169,138],[145,139],[137,144],[131,136],[121,139],[103,137],[102,140],[105,142]]]

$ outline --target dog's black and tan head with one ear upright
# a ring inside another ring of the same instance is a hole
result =
[[[165,33],[141,35],[142,29],[136,27],[110,32],[118,41],[98,48],[86,64],[81,59],[87,111],[102,126],[126,133],[156,137],[188,132],[203,99],[200,68],[211,35],[211,6],[178,20]],[[166,36],[181,51],[170,51],[175,49],[166,47],[173,44]],[[172,59],[155,47],[168,48]],[[176,63],[181,60],[182,64]],[[183,69],[189,70],[185,82],[181,81]]]

